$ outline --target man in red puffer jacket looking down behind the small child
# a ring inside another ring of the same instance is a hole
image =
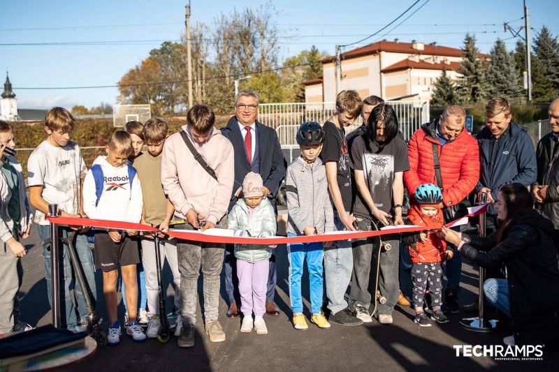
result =
[[[466,112],[463,107],[449,106],[440,117],[423,124],[409,140],[409,170],[404,182],[409,195],[421,184],[431,183],[442,190],[445,219],[453,219],[456,204],[472,192],[479,179],[479,147],[474,137],[464,131]],[[437,181],[433,149],[437,150],[441,180]],[[440,185],[442,182],[442,185]],[[445,221],[449,222],[449,221]],[[447,289],[444,293],[445,311],[458,313],[458,289],[462,260],[457,254],[447,265]]]

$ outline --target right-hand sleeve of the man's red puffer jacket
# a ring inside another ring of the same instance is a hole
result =
[[[467,151],[465,151],[465,156],[460,164],[458,182],[442,193],[442,202],[446,206],[458,204],[464,200],[472,192],[479,179],[479,147],[477,141],[473,137],[469,137],[464,142]]]

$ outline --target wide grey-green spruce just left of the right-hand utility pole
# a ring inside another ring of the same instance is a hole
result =
[[[491,63],[486,71],[488,97],[502,96],[509,100],[521,98],[521,84],[514,57],[507,52],[502,40],[497,39],[489,54]]]

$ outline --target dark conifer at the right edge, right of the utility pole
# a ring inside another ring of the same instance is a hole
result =
[[[537,80],[541,80],[539,83],[542,84],[542,87],[537,89],[537,97],[542,100],[542,98],[557,96],[559,94],[559,44],[557,37],[553,37],[545,26],[534,38],[534,54],[537,57],[535,64],[537,66],[532,67],[541,74]],[[546,92],[544,89],[550,91]]]

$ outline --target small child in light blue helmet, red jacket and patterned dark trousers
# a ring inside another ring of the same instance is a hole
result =
[[[430,327],[431,323],[423,311],[423,297],[426,288],[431,295],[431,319],[439,323],[448,323],[448,318],[441,311],[442,267],[445,256],[452,258],[453,251],[447,247],[447,242],[437,237],[435,230],[439,230],[444,218],[440,209],[442,193],[434,184],[422,184],[415,193],[416,203],[412,204],[407,214],[407,224],[425,226],[419,234],[404,237],[404,243],[409,247],[409,257],[412,259],[412,280],[414,282],[412,302],[416,311],[416,322],[421,327]]]

